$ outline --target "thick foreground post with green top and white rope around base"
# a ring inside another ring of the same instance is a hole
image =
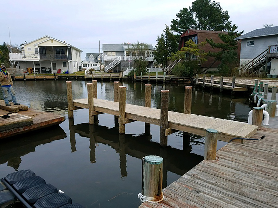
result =
[[[155,197],[149,201],[162,201],[163,158],[149,155],[142,158],[142,193],[145,197]],[[140,194],[138,195],[140,198]],[[141,199],[144,199],[143,197]]]

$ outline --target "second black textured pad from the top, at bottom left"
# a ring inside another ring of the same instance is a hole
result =
[[[27,189],[30,189],[31,187],[34,187],[34,186],[40,185],[40,184],[45,184],[44,179],[42,179],[39,176],[31,176],[31,177],[23,178],[19,181],[16,181],[15,184],[13,185],[13,188],[18,193],[23,193]]]

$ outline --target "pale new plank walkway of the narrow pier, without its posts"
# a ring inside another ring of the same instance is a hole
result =
[[[73,100],[73,105],[88,108],[88,99]],[[118,116],[119,103],[94,98],[94,110]],[[126,118],[160,125],[160,109],[126,104]],[[232,138],[250,138],[257,131],[257,126],[243,122],[173,111],[169,111],[168,121],[169,128],[201,136],[205,136],[205,130],[208,128],[216,129],[219,132],[217,139],[222,141],[230,141]]]

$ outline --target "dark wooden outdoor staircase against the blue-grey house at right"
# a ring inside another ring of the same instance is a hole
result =
[[[247,64],[242,66],[239,71],[242,73],[244,71],[249,71],[250,74],[255,74],[259,71],[261,67],[267,64],[273,57],[267,57],[268,48],[256,56],[253,60],[249,61]]]

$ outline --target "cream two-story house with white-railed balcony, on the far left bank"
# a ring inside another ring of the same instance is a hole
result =
[[[74,73],[81,67],[82,50],[45,35],[21,46],[22,53],[10,53],[17,68],[34,73]]]

